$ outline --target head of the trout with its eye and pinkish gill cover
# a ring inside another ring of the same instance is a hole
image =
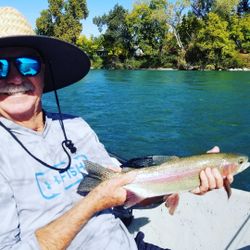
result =
[[[222,175],[238,174],[250,166],[248,156],[239,154],[225,154],[223,158]]]

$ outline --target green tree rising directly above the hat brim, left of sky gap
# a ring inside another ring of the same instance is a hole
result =
[[[48,0],[48,4],[36,20],[37,34],[76,44],[82,31],[81,20],[88,16],[86,0]]]

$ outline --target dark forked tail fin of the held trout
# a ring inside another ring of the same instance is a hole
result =
[[[83,177],[78,186],[77,193],[81,195],[90,192],[102,181],[111,178],[115,174],[115,171],[91,161],[84,161],[84,165],[88,174]]]

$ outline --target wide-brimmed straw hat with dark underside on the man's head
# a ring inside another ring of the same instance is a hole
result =
[[[36,35],[26,18],[12,7],[0,7],[0,48],[3,47],[28,47],[39,52],[45,62],[44,93],[79,81],[90,69],[89,58],[81,49]]]

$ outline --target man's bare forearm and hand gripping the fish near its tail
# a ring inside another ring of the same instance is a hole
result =
[[[133,173],[128,173],[102,182],[66,213],[48,225],[37,229],[35,234],[40,248],[67,249],[78,232],[96,212],[125,202],[126,190],[123,185],[133,181],[134,177]]]

